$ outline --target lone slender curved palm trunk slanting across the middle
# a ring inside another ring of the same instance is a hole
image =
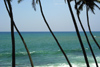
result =
[[[58,46],[59,46],[61,52],[63,53],[63,55],[65,56],[65,58],[66,58],[66,60],[67,60],[69,66],[72,67],[72,65],[71,65],[70,61],[68,60],[68,58],[67,58],[67,56],[66,56],[64,50],[63,50],[62,47],[60,46],[60,44],[59,44],[57,38],[56,38],[55,35],[53,34],[53,32],[52,32],[52,30],[51,30],[49,24],[47,23],[47,21],[46,21],[46,19],[45,19],[45,16],[44,16],[44,14],[43,14],[42,5],[41,5],[41,1],[40,1],[40,0],[39,0],[39,5],[40,5],[40,10],[41,10],[42,17],[43,17],[43,19],[44,19],[44,21],[45,21],[45,23],[46,23],[46,25],[47,25],[47,27],[48,27],[50,33],[52,34],[52,36],[54,37],[55,41],[57,42],[57,44],[58,44]]]

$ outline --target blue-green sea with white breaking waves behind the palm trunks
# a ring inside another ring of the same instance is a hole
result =
[[[65,57],[60,51],[56,41],[50,32],[21,32],[30,51],[35,67],[69,67]],[[68,56],[73,67],[86,67],[82,49],[76,32],[54,32],[60,45]],[[88,56],[90,67],[96,67],[83,32],[81,38]],[[100,50],[96,46],[89,32],[89,41],[100,66]],[[100,32],[93,32],[100,44]],[[15,32],[16,67],[31,67],[24,44],[17,32]],[[12,66],[11,33],[0,32],[0,67]]]

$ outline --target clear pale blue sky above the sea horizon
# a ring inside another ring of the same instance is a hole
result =
[[[44,15],[52,31],[75,31],[68,4],[64,0],[41,0],[41,3]],[[32,7],[32,0],[23,0],[20,4],[17,3],[17,0],[12,0],[11,4],[14,21],[20,31],[49,31],[42,18],[39,4],[36,4],[36,11]],[[74,2],[71,3],[71,6],[78,28],[82,31],[74,9]],[[84,6],[80,17],[85,30],[88,31],[85,9]],[[89,11],[92,31],[100,31],[99,17],[100,11],[97,8],[95,8],[95,14]],[[0,0],[0,32],[6,31],[10,31],[10,18],[3,0]]]

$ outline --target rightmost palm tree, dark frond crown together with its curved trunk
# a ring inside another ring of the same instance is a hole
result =
[[[99,0],[78,0],[76,2],[76,5],[75,5],[75,8],[76,6],[78,6],[77,10],[80,12],[81,10],[83,10],[83,6],[86,5],[86,12],[89,11],[89,9],[94,13],[94,7],[97,7],[98,9],[100,9],[100,7],[95,4],[96,3],[100,3]],[[87,13],[87,24],[88,24],[88,29],[89,29],[89,32],[94,40],[94,42],[96,43],[96,45],[98,46],[98,48],[100,49],[100,45],[98,44],[98,42],[96,41],[96,39],[94,38],[92,32],[91,32],[91,28],[90,28],[90,24],[89,24],[89,16],[88,16],[88,13]]]

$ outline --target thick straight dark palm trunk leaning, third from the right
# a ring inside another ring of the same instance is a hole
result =
[[[69,10],[70,10],[70,13],[71,13],[71,16],[72,16],[72,19],[73,19],[73,23],[74,23],[74,26],[75,26],[75,29],[76,29],[76,32],[77,32],[77,36],[78,36],[78,39],[79,39],[81,48],[82,48],[82,50],[83,50],[85,62],[86,62],[86,64],[87,64],[87,67],[89,67],[88,58],[87,58],[87,55],[86,55],[86,52],[85,52],[85,48],[84,48],[84,45],[83,45],[83,42],[82,42],[82,39],[81,39],[79,30],[78,30],[78,27],[77,27],[77,23],[76,23],[75,17],[74,17],[73,12],[72,12],[72,8],[71,8],[71,5],[70,5],[70,1],[67,0],[67,2],[68,2]]]

